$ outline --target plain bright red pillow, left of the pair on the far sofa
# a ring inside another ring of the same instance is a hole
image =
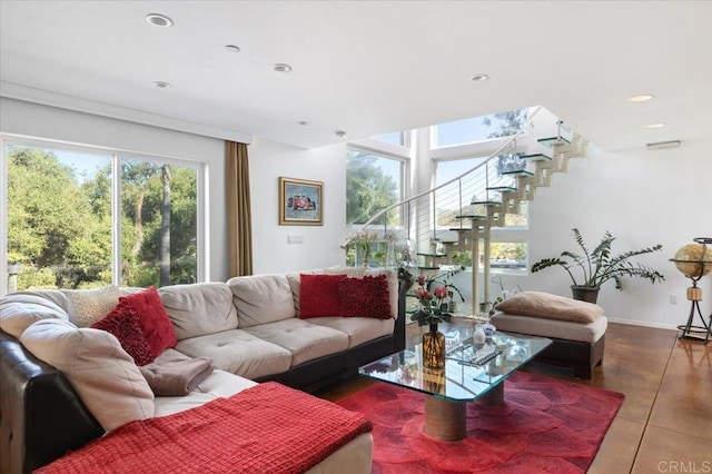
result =
[[[346,275],[299,276],[299,318],[339,316],[338,284]]]

